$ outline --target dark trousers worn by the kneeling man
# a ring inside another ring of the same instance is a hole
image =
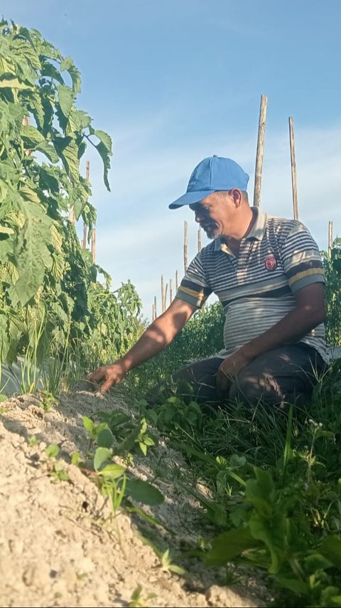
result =
[[[236,400],[253,406],[259,402],[279,406],[303,404],[310,399],[313,386],[325,369],[323,358],[314,348],[285,345],[256,357],[231,380],[226,394],[219,398],[216,376],[222,361],[220,357],[211,357],[179,369],[172,376],[173,386],[178,387],[176,392],[200,404]],[[155,392],[153,397],[152,401],[157,403]]]

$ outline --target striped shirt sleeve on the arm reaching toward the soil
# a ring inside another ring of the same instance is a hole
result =
[[[202,308],[208,296],[212,293],[205,277],[202,265],[202,253],[197,253],[181,281],[175,298],[185,300],[197,308]]]

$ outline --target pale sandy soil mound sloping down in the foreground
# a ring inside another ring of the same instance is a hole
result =
[[[79,391],[64,394],[44,412],[33,396],[11,397],[0,416],[0,604],[2,607],[256,607],[261,587],[222,585],[222,572],[192,560],[188,577],[166,570],[131,515],[112,518],[107,500],[84,473],[70,464],[85,456],[89,440],[82,416],[126,405],[117,397]],[[28,443],[31,436],[38,443]],[[58,444],[58,461],[68,475],[56,481],[45,447]],[[176,555],[176,547],[197,537],[193,496],[179,490],[185,470],[180,454],[164,443],[134,458],[132,472],[153,478],[156,465],[168,472],[156,482],[165,503],[151,514],[155,533]],[[139,597],[134,591],[140,587]],[[153,594],[153,597],[150,597]]]

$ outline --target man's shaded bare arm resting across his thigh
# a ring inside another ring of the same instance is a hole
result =
[[[296,308],[276,325],[247,342],[233,355],[227,357],[217,373],[217,384],[224,389],[231,377],[237,374],[259,355],[283,344],[301,340],[310,330],[325,320],[325,286],[311,283],[295,293]]]

